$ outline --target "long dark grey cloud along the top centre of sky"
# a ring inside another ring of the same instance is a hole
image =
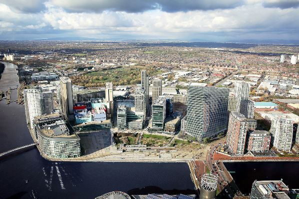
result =
[[[243,0],[51,0],[51,3],[71,12],[110,10],[131,13],[152,9],[166,12],[228,9],[243,4]]]

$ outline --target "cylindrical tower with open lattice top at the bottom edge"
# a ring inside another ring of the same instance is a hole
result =
[[[206,173],[201,177],[199,199],[213,199],[216,196],[217,176]]]

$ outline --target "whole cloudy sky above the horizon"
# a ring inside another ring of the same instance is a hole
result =
[[[299,0],[0,0],[0,40],[299,40]]]

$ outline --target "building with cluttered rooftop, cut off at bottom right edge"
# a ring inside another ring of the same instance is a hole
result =
[[[289,188],[281,180],[254,181],[251,186],[250,199],[290,198],[286,193]]]

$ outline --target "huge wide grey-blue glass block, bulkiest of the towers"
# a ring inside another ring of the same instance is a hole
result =
[[[186,133],[203,140],[227,129],[228,88],[190,86]]]

